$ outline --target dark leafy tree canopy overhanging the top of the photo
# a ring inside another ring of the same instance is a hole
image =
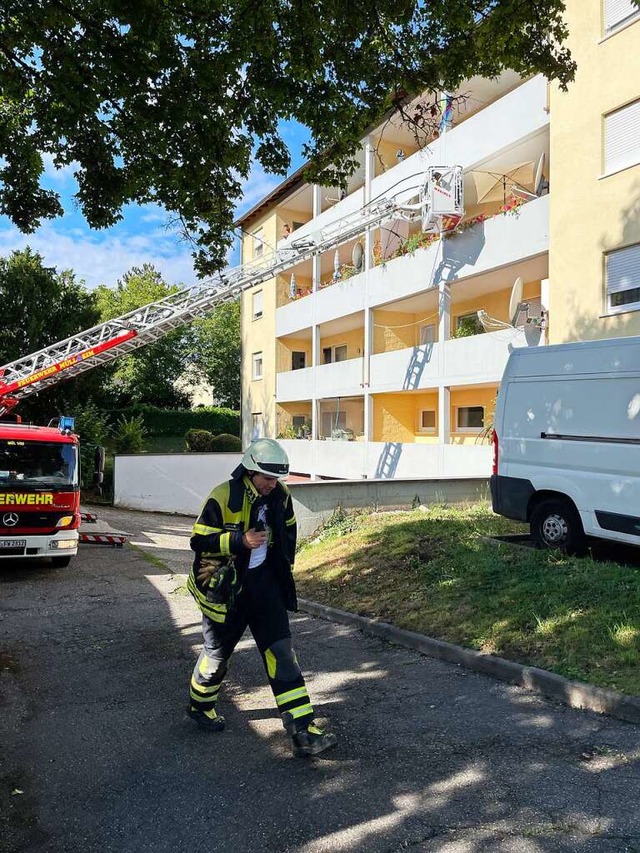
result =
[[[43,156],[73,164],[92,227],[157,202],[223,265],[255,159],[283,174],[279,121],[311,132],[308,179],[337,184],[366,128],[407,95],[504,68],[566,86],[563,0],[5,0],[0,212],[61,214]]]

